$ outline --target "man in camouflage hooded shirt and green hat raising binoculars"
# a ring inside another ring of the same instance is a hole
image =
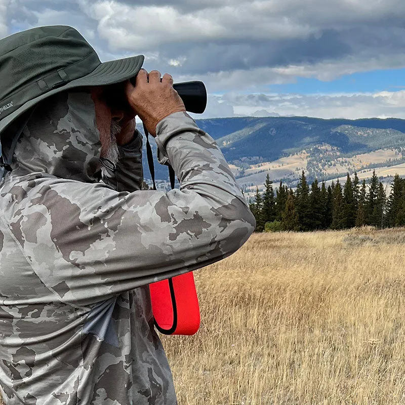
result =
[[[0,41],[0,105],[9,105],[0,115],[7,405],[177,403],[148,285],[229,256],[255,226],[221,151],[185,112],[172,77],[160,82],[158,71],[140,70],[139,57],[106,65],[94,54],[70,27]],[[125,82],[134,75],[135,86]],[[132,113],[108,104],[105,86],[119,82]],[[135,114],[180,189],[140,191]],[[13,152],[7,140],[17,139]]]

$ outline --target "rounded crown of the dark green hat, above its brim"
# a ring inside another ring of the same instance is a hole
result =
[[[45,93],[59,83],[89,74],[100,63],[86,39],[69,26],[38,27],[2,39],[0,109],[4,110],[0,119],[10,103],[16,104],[15,98]],[[18,96],[24,89],[26,94]],[[13,105],[9,108],[13,109]]]

